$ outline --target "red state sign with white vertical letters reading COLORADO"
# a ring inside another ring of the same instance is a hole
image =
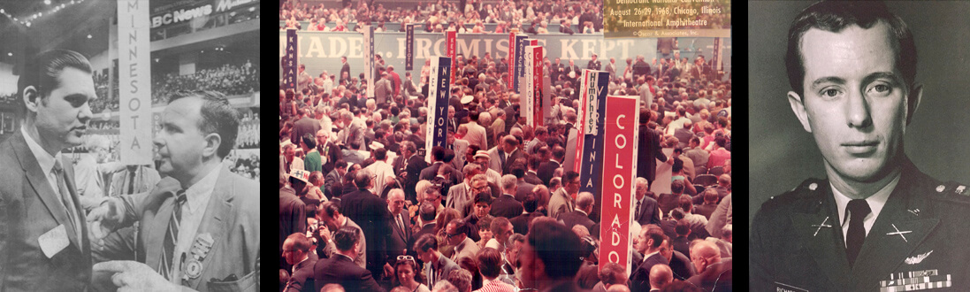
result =
[[[637,96],[607,96],[603,127],[603,177],[599,259],[617,263],[630,274],[630,206],[636,178]],[[605,265],[599,265],[599,268]]]

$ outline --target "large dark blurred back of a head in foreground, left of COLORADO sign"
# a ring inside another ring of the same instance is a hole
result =
[[[579,237],[566,225],[555,221],[536,221],[526,237],[538,260],[545,265],[546,276],[565,279],[576,276],[579,259]],[[662,233],[663,235],[663,233]]]

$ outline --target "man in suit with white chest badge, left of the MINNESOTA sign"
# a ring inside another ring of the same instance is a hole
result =
[[[90,244],[74,167],[61,150],[81,145],[91,118],[91,66],[78,52],[53,49],[23,68],[24,120],[0,144],[0,290],[83,291]]]

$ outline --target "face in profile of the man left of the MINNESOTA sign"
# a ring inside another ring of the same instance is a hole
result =
[[[57,82],[59,86],[36,103],[37,132],[42,141],[64,147],[81,145],[81,136],[91,119],[88,100],[97,98],[94,80],[89,73],[66,67],[58,74]]]

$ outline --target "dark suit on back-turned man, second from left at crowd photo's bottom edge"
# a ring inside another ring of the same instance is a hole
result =
[[[320,291],[323,286],[336,283],[346,291],[384,291],[371,276],[371,271],[358,267],[349,257],[334,254],[333,257],[319,260],[313,266],[316,279],[314,291]]]

